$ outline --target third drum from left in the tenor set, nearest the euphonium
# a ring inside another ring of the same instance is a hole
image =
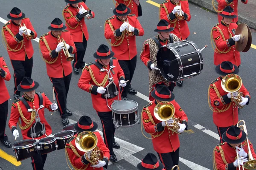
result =
[[[72,131],[63,131],[63,132],[56,133],[54,137],[58,144],[57,150],[64,149],[67,143],[67,140],[70,139],[72,136],[74,136],[74,133]]]

